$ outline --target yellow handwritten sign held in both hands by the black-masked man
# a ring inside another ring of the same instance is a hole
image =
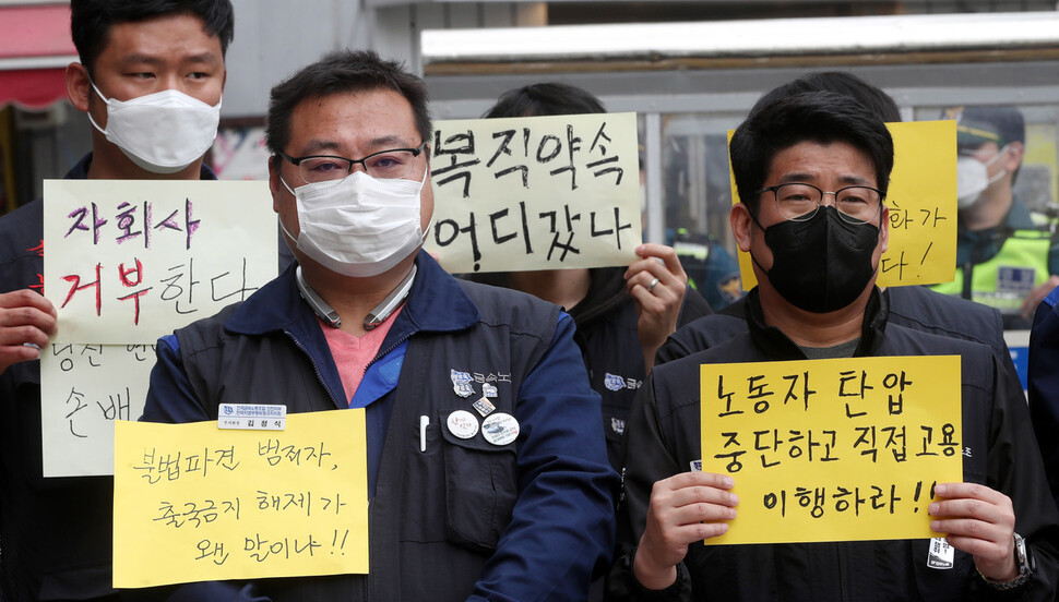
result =
[[[937,537],[937,483],[963,481],[960,357],[701,366],[702,470],[739,495],[706,544]]]

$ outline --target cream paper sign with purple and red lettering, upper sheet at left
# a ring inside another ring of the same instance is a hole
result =
[[[55,342],[147,344],[276,276],[267,182],[45,180]]]

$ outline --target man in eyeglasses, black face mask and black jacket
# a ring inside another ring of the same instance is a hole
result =
[[[885,124],[846,96],[782,96],[736,130],[730,160],[740,194],[731,229],[758,277],[748,330],[655,366],[638,394],[619,517],[631,551],[616,565],[612,599],[1054,600],[1059,517],[1018,384],[986,345],[888,323],[874,286],[893,167]],[[939,483],[929,507],[931,528],[955,549],[945,569],[928,566],[927,539],[702,545],[728,530],[740,501],[731,475],[688,472],[710,453],[700,365],[917,354],[962,357],[967,482]]]

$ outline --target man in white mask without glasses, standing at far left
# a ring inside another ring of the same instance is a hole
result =
[[[67,68],[92,152],[68,179],[214,180],[233,39],[229,0],[73,0],[81,61]],[[165,185],[159,182],[159,185]],[[56,333],[41,294],[43,203],[0,219],[0,583],[5,600],[117,600],[110,477],[44,479],[38,348]]]

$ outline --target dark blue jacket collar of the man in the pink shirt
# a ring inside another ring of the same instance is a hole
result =
[[[452,332],[474,325],[480,314],[467,293],[426,251],[416,256],[416,277],[404,309],[388,338],[418,330]],[[298,334],[316,326],[312,309],[298,293],[296,264],[250,296],[225,323],[225,328],[243,335],[263,335],[290,329]]]

